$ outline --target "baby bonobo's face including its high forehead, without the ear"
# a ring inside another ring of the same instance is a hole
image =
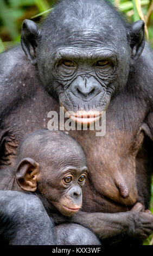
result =
[[[76,143],[61,143],[41,166],[37,190],[61,214],[72,216],[82,205],[81,187],[87,176],[86,157]]]

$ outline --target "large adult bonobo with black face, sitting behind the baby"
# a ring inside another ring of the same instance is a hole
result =
[[[82,208],[88,214],[79,212],[79,223],[90,223],[101,239],[142,237],[133,212],[123,211],[137,201],[149,207],[153,63],[152,50],[144,47],[143,21],[124,22],[103,0],[65,0],[40,29],[25,21],[21,42],[35,65],[21,47],[0,57],[2,168],[14,163],[27,133],[47,127],[50,110],[59,112],[62,105],[75,112],[71,118],[77,123],[90,123],[99,118],[95,111],[109,106],[104,137],[71,131],[89,169]]]

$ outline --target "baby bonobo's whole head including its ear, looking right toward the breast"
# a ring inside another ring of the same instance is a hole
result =
[[[21,144],[14,186],[37,191],[61,214],[72,216],[81,208],[86,175],[86,158],[74,139],[59,131],[39,130]]]

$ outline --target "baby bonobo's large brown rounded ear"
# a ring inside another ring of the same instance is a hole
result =
[[[36,191],[39,167],[39,163],[33,159],[29,157],[23,159],[16,169],[16,181],[18,186],[25,191]]]

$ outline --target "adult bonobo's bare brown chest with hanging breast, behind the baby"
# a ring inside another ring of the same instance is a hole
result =
[[[35,93],[19,100],[3,121],[1,168],[14,164],[17,146],[28,133],[47,128],[48,112],[59,114],[59,103],[37,83]],[[118,129],[117,115],[111,121],[115,103],[107,111],[105,136],[96,137],[95,131],[68,132],[84,148],[87,157],[89,175],[83,188],[82,208],[85,211],[126,211],[137,200],[135,157],[127,152],[131,133],[124,129],[124,123],[122,127],[122,121]]]

